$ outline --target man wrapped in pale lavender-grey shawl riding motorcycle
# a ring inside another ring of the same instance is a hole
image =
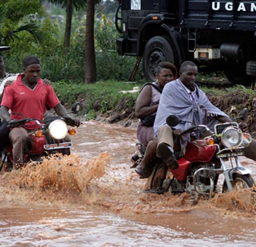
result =
[[[191,61],[185,61],[179,71],[179,79],[167,83],[161,94],[156,113],[154,130],[158,136],[156,154],[161,157],[172,169],[179,164],[173,152],[176,135],[191,125],[205,124],[213,130],[217,123],[232,122],[232,120],[219,108],[214,106],[195,84],[197,67]],[[173,129],[166,124],[169,115],[176,115],[180,120]],[[185,151],[186,142],[181,151]],[[256,160],[256,141],[245,150],[245,156]]]

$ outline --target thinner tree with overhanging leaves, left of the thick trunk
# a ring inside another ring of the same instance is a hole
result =
[[[85,8],[86,1],[85,0],[48,0],[48,1],[54,4],[61,4],[66,9],[64,47],[68,48],[70,46],[73,7],[76,10]]]

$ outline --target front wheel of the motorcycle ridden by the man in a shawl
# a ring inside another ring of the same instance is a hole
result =
[[[251,188],[254,185],[254,181],[250,174],[241,175],[241,174],[234,174],[233,181],[231,182],[234,190],[239,190],[243,188]],[[223,184],[222,192],[225,193],[228,191],[226,181]]]

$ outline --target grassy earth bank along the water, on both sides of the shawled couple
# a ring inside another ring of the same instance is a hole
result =
[[[122,90],[132,90],[135,86],[142,87],[143,82],[124,83],[112,80],[83,84],[72,82],[56,82],[54,89],[66,106],[73,102],[82,102],[82,114],[86,114],[84,120],[95,119],[101,115],[110,123],[125,120],[125,126],[135,118],[134,106],[138,93],[120,93]],[[256,92],[253,88],[236,86],[233,88],[217,89],[213,87],[201,87],[209,100],[232,118],[247,107],[250,111],[247,124],[250,133],[256,133]]]

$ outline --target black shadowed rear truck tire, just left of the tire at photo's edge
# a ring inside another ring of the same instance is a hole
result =
[[[255,78],[246,75],[245,65],[234,65],[231,66],[230,70],[225,71],[226,78],[232,84],[240,84],[244,86],[250,86],[252,83],[255,82]]]

